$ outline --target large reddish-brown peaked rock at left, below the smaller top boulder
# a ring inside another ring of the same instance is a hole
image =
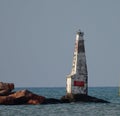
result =
[[[7,96],[0,96],[2,105],[42,104],[45,97],[34,94],[28,90],[21,90]]]

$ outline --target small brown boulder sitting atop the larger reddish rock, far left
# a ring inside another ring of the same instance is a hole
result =
[[[14,89],[13,83],[0,82],[0,96],[9,95],[13,89]]]

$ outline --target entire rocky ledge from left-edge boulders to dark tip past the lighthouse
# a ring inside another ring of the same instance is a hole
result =
[[[94,102],[94,103],[109,103],[108,101],[98,99],[83,94],[65,95],[61,99],[46,98],[32,93],[29,90],[20,90],[12,92],[14,89],[13,83],[0,82],[0,105],[36,105],[36,104],[60,104],[71,102]]]

